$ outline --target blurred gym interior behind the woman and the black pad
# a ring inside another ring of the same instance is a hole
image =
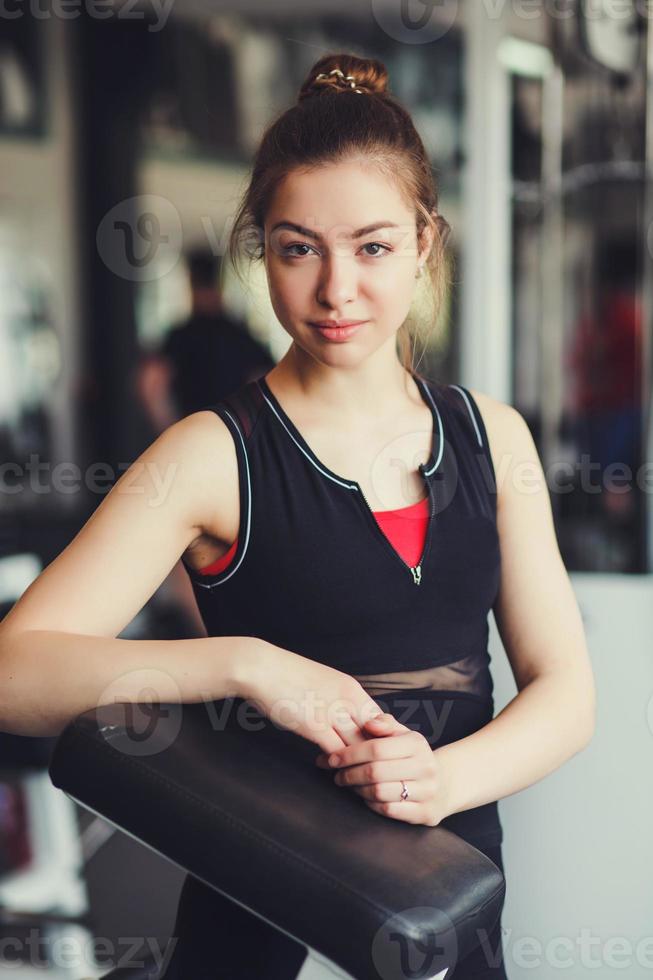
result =
[[[216,400],[285,351],[263,270],[243,284],[221,260],[263,127],[341,49],[387,65],[452,228],[455,285],[418,369],[526,418],[599,686],[587,752],[501,803],[508,974],[528,973],[511,953],[518,937],[588,927],[602,950],[631,943],[637,980],[651,968],[635,948],[650,931],[653,806],[640,775],[653,729],[645,4],[6,0],[2,611],[192,410],[175,365],[183,325],[231,338],[213,362]],[[202,635],[193,607],[178,566],[121,635]],[[492,643],[498,711],[515,687],[495,630]],[[182,874],[60,799],[50,748],[0,734],[0,973],[99,976],[129,954],[125,937],[164,949]],[[95,966],[66,966],[52,943],[38,959],[30,935],[102,937],[106,950]],[[572,959],[574,978],[597,976]],[[598,965],[611,972],[607,954]],[[555,969],[543,956],[536,975]]]

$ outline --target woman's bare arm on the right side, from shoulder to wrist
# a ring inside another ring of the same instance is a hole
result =
[[[497,475],[501,583],[494,615],[519,693],[483,728],[435,750],[446,773],[449,813],[547,776],[587,747],[596,715],[582,617],[533,437],[512,406],[470,391]]]

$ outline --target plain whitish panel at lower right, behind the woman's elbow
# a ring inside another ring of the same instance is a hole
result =
[[[653,576],[575,574],[572,583],[596,678],[596,733],[499,803],[506,972],[644,980],[653,973]],[[516,687],[491,626],[499,712]]]

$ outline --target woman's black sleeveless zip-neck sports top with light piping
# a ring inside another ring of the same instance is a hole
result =
[[[386,710],[398,693],[446,698],[455,710],[435,746],[493,717],[488,613],[501,559],[478,406],[462,385],[413,378],[433,427],[419,466],[429,522],[416,566],[382,532],[359,484],[318,459],[265,377],[207,406],[236,447],[235,555],[208,575],[182,562],[209,636],[259,636],[342,670]],[[502,839],[496,803],[448,825],[472,841]]]

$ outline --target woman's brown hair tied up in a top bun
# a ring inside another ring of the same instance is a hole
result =
[[[369,157],[382,175],[395,181],[415,209],[418,243],[425,226],[433,228],[433,247],[423,272],[430,286],[428,321],[434,323],[447,296],[444,248],[451,229],[437,214],[438,192],[422,140],[409,113],[389,94],[385,65],[375,58],[346,53],[320,58],[303,82],[296,104],[268,126],[231,230],[232,265],[239,274],[241,246],[250,259],[263,257],[265,214],[277,185],[291,170],[352,157]],[[419,324],[409,314],[397,333],[397,353],[409,371],[419,333]]]

